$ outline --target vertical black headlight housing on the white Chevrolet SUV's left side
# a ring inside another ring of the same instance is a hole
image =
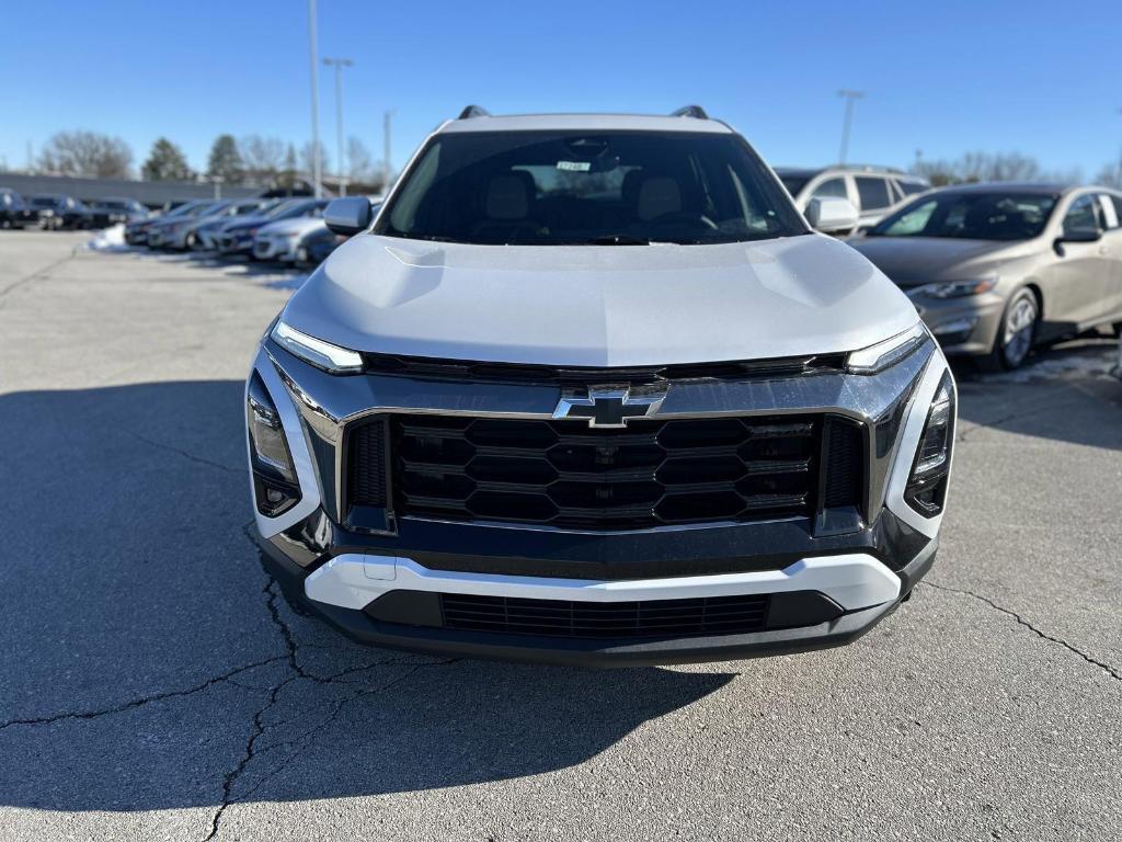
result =
[[[280,413],[260,376],[254,374],[246,395],[249,455],[254,467],[257,511],[275,518],[300,502],[296,467],[280,423]]]

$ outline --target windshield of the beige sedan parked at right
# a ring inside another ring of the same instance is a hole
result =
[[[873,228],[870,237],[1027,240],[1038,236],[1056,196],[1030,193],[946,193],[919,199]]]

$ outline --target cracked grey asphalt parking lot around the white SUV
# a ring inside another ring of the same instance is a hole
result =
[[[0,232],[0,838],[1105,840],[1122,384],[960,377],[909,603],[839,650],[589,671],[366,649],[246,530],[242,378],[300,276]]]

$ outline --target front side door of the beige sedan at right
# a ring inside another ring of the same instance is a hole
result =
[[[1103,239],[1094,242],[1064,242],[1063,237],[1074,231],[1100,228],[1100,208],[1094,193],[1079,193],[1072,198],[1055,231],[1054,262],[1048,274],[1050,289],[1045,290],[1046,310],[1050,322],[1060,332],[1080,329],[1101,320],[1110,310],[1111,264],[1107,245]],[[1050,303],[1049,303],[1050,302]]]

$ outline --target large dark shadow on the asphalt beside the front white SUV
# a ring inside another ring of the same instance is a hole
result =
[[[595,758],[725,669],[581,669],[355,644],[247,537],[242,384],[0,395],[0,804],[150,811],[453,787]]]

